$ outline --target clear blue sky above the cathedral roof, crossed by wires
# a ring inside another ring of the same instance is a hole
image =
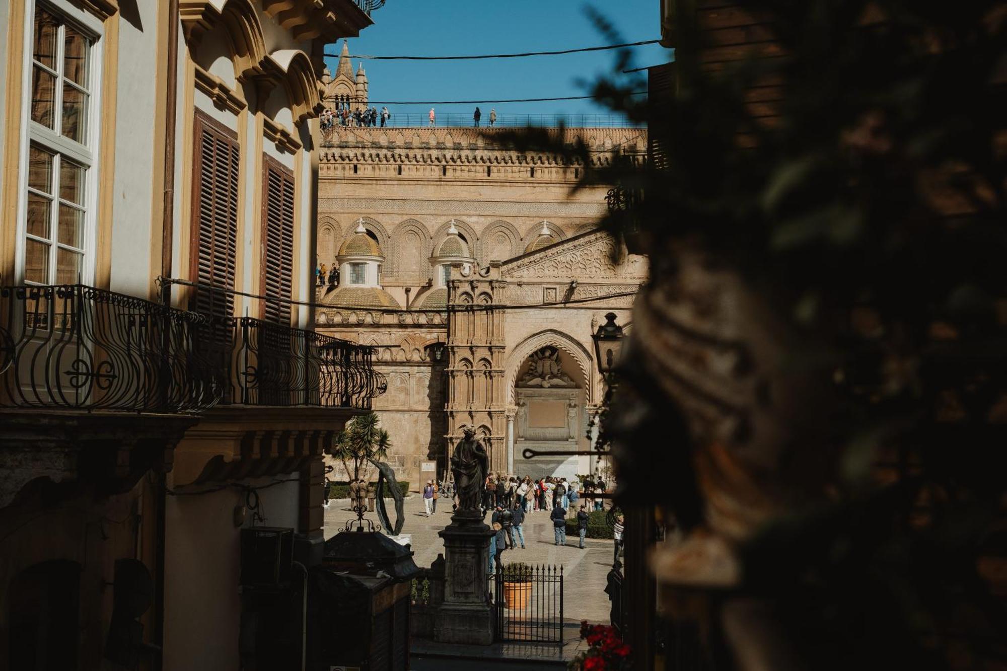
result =
[[[577,48],[607,40],[585,13],[594,6],[614,23],[620,41],[660,37],[658,0],[388,0],[375,25],[349,40],[350,53],[467,55]],[[326,52],[337,53],[340,44]],[[634,65],[666,62],[658,44],[633,48]],[[373,101],[449,101],[582,96],[578,80],[612,72],[615,51],[491,60],[365,60]],[[335,72],[336,58],[326,58]],[[353,72],[359,60],[353,60]],[[379,106],[380,107],[380,106]],[[390,105],[393,115],[425,115],[430,105]],[[437,114],[470,117],[474,105],[435,105]],[[590,100],[480,105],[500,115],[606,114]],[[485,119],[483,119],[485,122]]]

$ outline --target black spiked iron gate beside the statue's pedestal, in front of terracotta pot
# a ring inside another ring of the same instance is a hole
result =
[[[509,564],[489,576],[497,641],[563,643],[563,567]]]

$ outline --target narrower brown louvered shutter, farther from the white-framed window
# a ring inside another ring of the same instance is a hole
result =
[[[290,299],[294,273],[294,175],[278,161],[263,156],[262,293]],[[290,303],[266,300],[263,318],[290,325]]]

